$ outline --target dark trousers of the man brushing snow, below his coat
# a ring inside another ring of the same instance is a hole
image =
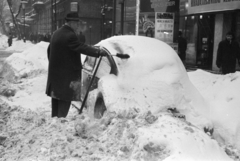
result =
[[[66,117],[71,101],[63,101],[52,98],[52,117]]]

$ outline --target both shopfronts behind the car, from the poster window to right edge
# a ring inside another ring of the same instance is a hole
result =
[[[240,42],[240,0],[125,0],[124,5],[123,34],[135,31],[165,41],[177,51],[180,30],[188,42],[186,65],[190,67],[218,71],[217,49],[225,34],[234,32]],[[120,4],[116,17],[116,31],[120,31]],[[153,33],[147,28],[153,28]]]

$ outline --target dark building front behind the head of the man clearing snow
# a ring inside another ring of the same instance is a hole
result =
[[[103,16],[101,14],[103,4],[112,7],[112,0],[56,0],[56,21],[55,15],[52,15],[51,1],[45,0],[44,2],[44,7],[36,11],[35,22],[31,27],[33,33],[46,34],[52,32],[52,27],[53,30],[60,28],[65,23],[66,14],[70,12],[70,3],[78,2],[78,14],[81,20],[84,21],[80,30],[86,37],[86,43],[96,44],[101,39],[112,36],[112,9],[106,11],[104,17],[106,25],[103,25]]]

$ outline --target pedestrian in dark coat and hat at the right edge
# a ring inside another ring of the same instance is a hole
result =
[[[226,39],[218,45],[217,61],[218,68],[222,68],[223,74],[236,72],[236,60],[240,65],[240,48],[237,41],[233,40],[233,33],[228,32]]]

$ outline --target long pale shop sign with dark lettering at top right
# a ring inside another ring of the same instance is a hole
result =
[[[240,9],[240,0],[188,0],[187,14]]]

